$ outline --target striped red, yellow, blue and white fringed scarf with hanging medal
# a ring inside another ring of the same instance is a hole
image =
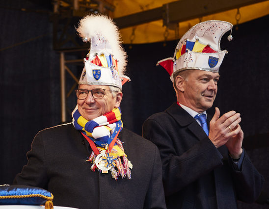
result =
[[[117,138],[123,127],[120,108],[114,108],[112,111],[88,121],[81,116],[76,107],[72,116],[75,129],[81,131],[93,150],[89,159],[86,160],[93,163],[91,170],[95,171],[97,168],[102,173],[108,173],[107,170],[110,170],[112,177],[116,180],[118,176],[131,179],[130,168],[132,169],[133,165],[124,153],[122,142]],[[96,157],[98,161],[96,161]]]

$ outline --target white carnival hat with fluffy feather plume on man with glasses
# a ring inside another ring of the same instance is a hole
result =
[[[130,78],[124,76],[127,55],[121,47],[115,23],[107,16],[88,15],[81,19],[77,31],[84,42],[91,42],[79,84],[109,85],[121,89]]]

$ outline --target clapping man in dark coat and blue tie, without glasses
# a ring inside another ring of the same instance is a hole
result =
[[[251,203],[260,194],[264,179],[242,148],[240,113],[220,117],[217,107],[213,118],[206,113],[226,53],[220,38],[231,28],[223,21],[193,26],[179,41],[176,60],[159,61],[171,76],[177,103],[149,117],[143,137],[160,150],[168,209],[236,209],[237,200]]]

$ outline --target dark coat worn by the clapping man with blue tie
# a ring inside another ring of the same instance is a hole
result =
[[[178,104],[149,117],[143,137],[160,150],[168,209],[236,209],[237,200],[258,198],[264,179],[246,152],[242,169],[235,169],[226,146],[216,149]]]

